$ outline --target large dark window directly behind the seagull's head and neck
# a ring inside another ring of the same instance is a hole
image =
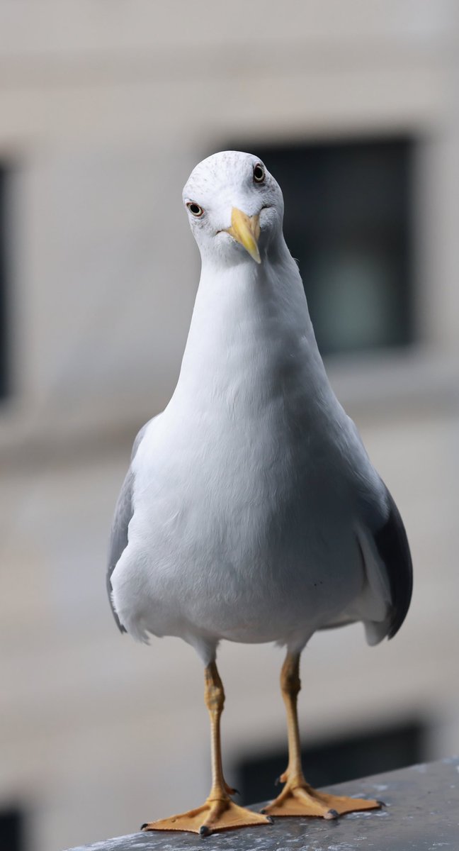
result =
[[[284,193],[286,243],[322,355],[415,340],[410,139],[233,146]]]

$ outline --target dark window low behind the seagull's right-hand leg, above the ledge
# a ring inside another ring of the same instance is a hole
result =
[[[426,728],[420,722],[404,723],[369,733],[349,734],[303,748],[303,768],[308,782],[328,786],[405,768],[425,759]],[[286,769],[286,750],[243,760],[236,767],[241,799],[257,803],[275,795],[275,778]]]

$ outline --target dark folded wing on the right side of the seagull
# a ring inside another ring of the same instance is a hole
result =
[[[386,488],[389,516],[377,533],[374,534],[377,551],[388,571],[388,580],[393,605],[393,619],[388,638],[393,638],[403,624],[411,603],[413,591],[413,566],[410,545],[406,537],[405,526],[399,509]]]

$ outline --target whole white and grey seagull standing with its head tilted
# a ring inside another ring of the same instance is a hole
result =
[[[195,167],[183,200],[201,279],[173,397],[133,444],[107,584],[122,631],[181,637],[199,654],[212,788],[200,807],[142,829],[207,836],[377,808],[305,780],[299,661],[317,630],[361,621],[371,645],[394,637],[411,602],[405,528],[331,390],[275,178],[258,157],[221,151]],[[236,805],[224,780],[223,639],[286,648],[288,765],[261,813]]]

